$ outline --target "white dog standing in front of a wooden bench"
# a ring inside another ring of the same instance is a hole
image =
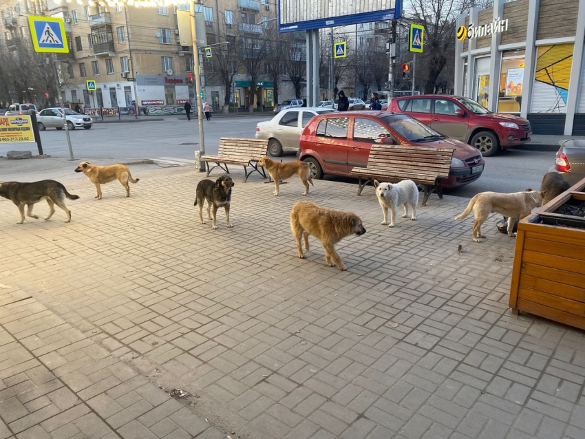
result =
[[[382,211],[384,213],[384,221],[381,223],[384,226],[388,224],[388,208],[390,208],[390,226],[394,227],[394,217],[396,217],[396,208],[398,206],[404,206],[403,218],[408,216],[408,206],[412,208],[412,221],[416,219],[416,204],[418,204],[418,188],[412,180],[403,180],[401,182],[391,183],[380,183],[378,180],[374,180],[374,186],[376,187],[376,195]]]

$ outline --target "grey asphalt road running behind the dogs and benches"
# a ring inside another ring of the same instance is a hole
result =
[[[253,138],[257,122],[267,116],[216,117],[204,120],[205,151],[217,153],[220,137]],[[136,123],[100,123],[92,129],[70,131],[76,159],[145,159],[175,157],[193,159],[193,151],[199,149],[198,123],[196,119],[167,118],[164,121]],[[47,129],[41,131],[45,154],[69,158],[65,131]],[[36,145],[0,144],[0,155],[10,149],[36,153]],[[284,160],[294,160],[294,155]],[[486,158],[481,178],[460,189],[445,191],[449,195],[471,197],[483,191],[515,192],[526,188],[538,189],[542,175],[554,163],[553,151],[526,151],[511,149],[500,155]],[[121,161],[121,160],[120,160]],[[337,179],[352,182],[350,179]],[[1,180],[1,176],[0,176]]]

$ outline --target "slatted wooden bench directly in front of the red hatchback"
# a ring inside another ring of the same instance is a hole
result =
[[[412,180],[424,185],[423,206],[431,193],[443,198],[441,180],[449,177],[452,148],[411,147],[405,145],[372,145],[368,165],[352,169],[359,178],[357,195],[374,180],[399,182]],[[365,180],[362,182],[362,180]]]

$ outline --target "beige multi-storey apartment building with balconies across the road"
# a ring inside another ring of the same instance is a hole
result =
[[[18,49],[17,39],[30,40],[28,15],[61,17],[65,21],[70,51],[58,54],[57,59],[67,72],[61,88],[67,102],[94,108],[132,107],[134,103],[140,107],[182,105],[193,101],[193,47],[180,45],[177,24],[177,10],[189,10],[188,5],[125,8],[100,6],[98,2],[89,6],[86,0],[3,3],[0,25],[8,32],[5,39],[14,50]],[[266,32],[268,21],[275,19],[277,12],[275,0],[212,0],[195,8],[204,16],[208,44],[220,43],[213,51],[221,50],[224,40],[235,43],[236,38],[239,45],[244,41],[255,47],[257,41],[270,37]],[[203,50],[200,52],[200,60],[204,61]],[[235,56],[246,55],[236,51]],[[226,93],[235,107],[274,105],[274,81],[270,81],[274,76],[268,75],[268,63],[260,66],[254,85],[244,63],[234,59],[231,65],[235,69],[234,81],[226,89],[214,63],[202,63],[204,97],[215,110],[222,109]],[[282,66],[279,94],[283,98],[295,97],[285,73]],[[96,90],[88,91],[86,81],[95,81]],[[253,102],[248,98],[251,87],[255,90]]]

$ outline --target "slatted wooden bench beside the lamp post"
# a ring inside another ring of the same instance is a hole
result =
[[[264,175],[266,173],[264,168],[258,168],[257,162],[266,156],[266,149],[268,149],[268,140],[258,139],[235,139],[222,137],[220,138],[220,149],[217,151],[217,156],[201,156],[201,160],[205,162],[207,167],[207,177],[213,169],[219,167],[226,173],[229,173],[228,164],[239,164],[244,167],[244,183],[248,180],[251,173],[257,172]],[[209,167],[209,163],[215,163],[214,167]],[[248,167],[253,169],[248,172]]]

